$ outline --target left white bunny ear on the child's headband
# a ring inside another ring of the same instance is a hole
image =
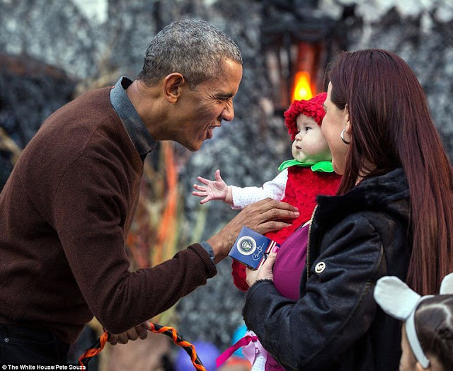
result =
[[[385,276],[377,280],[374,299],[386,314],[406,321],[415,309],[420,295],[398,277]]]

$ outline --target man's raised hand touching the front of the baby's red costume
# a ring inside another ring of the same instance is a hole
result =
[[[218,263],[228,255],[243,226],[265,234],[288,227],[298,216],[297,207],[270,198],[244,207],[220,232],[207,240],[214,251],[214,262]]]

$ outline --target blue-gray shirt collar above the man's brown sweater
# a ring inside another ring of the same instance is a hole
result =
[[[153,139],[147,127],[144,125],[137,110],[126,94],[126,89],[132,84],[132,80],[121,76],[112,90],[110,90],[110,102],[115,112],[120,117],[122,125],[125,127],[135,149],[142,160],[151,152],[157,142]]]

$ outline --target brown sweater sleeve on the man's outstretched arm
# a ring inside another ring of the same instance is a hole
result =
[[[72,274],[89,309],[121,333],[204,285],[217,270],[200,244],[153,268],[130,272],[124,226],[130,184],[101,161],[81,157],[65,173],[53,213]]]

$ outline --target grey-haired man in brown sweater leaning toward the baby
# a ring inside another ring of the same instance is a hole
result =
[[[145,338],[148,319],[217,273],[243,225],[265,233],[297,217],[264,200],[207,241],[129,271],[144,158],[160,140],[200,149],[233,120],[241,76],[228,36],[179,21],[151,41],[137,80],[88,92],[42,124],[0,194],[0,363],[65,363],[93,315],[111,343]]]

